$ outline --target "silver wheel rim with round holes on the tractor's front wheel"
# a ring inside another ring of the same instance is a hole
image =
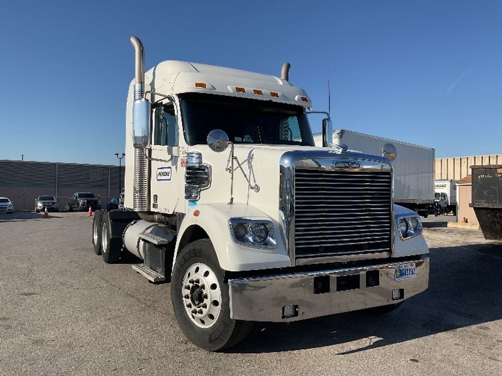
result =
[[[214,271],[203,263],[195,263],[185,273],[181,286],[182,304],[192,322],[210,328],[221,312],[221,287]]]

